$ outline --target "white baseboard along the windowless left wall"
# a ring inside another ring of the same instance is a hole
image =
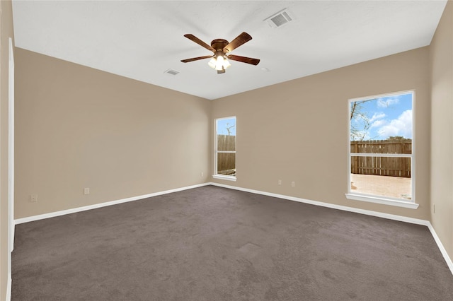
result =
[[[116,200],[116,201],[107,201],[107,202],[104,202],[104,203],[96,203],[96,204],[89,205],[89,206],[83,206],[83,207],[78,207],[78,208],[62,210],[62,211],[55,211],[55,212],[51,212],[51,213],[40,214],[38,216],[29,216],[27,218],[18,218],[16,220],[14,220],[14,223],[16,225],[18,225],[18,224],[21,224],[21,223],[33,222],[35,220],[43,220],[45,218],[55,218],[56,216],[64,216],[64,215],[70,214],[70,213],[77,213],[77,212],[81,212],[81,211],[87,211],[87,210],[91,210],[91,209],[117,205],[119,203],[127,203],[127,202],[130,202],[130,201],[138,201],[138,200],[141,200],[141,199],[150,198],[152,196],[160,196],[162,194],[171,194],[172,192],[183,191],[183,190],[187,190],[187,189],[193,189],[193,188],[197,188],[197,187],[207,186],[209,184],[210,183],[203,183],[203,184],[197,184],[197,185],[192,185],[192,186],[188,186],[188,187],[180,187],[180,188],[176,188],[176,189],[170,189],[170,190],[165,190],[165,191],[154,192],[152,194],[144,194],[142,196],[132,196],[132,197],[127,198],[127,199],[120,199],[120,200]]]

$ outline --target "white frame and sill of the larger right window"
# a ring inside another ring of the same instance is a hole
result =
[[[382,203],[391,206],[398,206],[404,208],[418,208],[418,203],[415,203],[415,90],[406,90],[395,93],[386,93],[380,95],[367,96],[363,98],[352,98],[348,100],[348,116],[350,116],[350,104],[351,102],[360,100],[369,100],[374,98],[385,98],[393,95],[401,94],[412,94],[412,151],[411,154],[385,154],[385,153],[353,153],[351,154],[350,149],[350,118],[348,118],[348,193],[345,194],[346,198],[355,201],[366,201],[371,203]],[[390,196],[379,196],[374,194],[362,194],[351,191],[351,158],[355,156],[359,157],[398,157],[398,158],[411,158],[411,200],[396,199]]]

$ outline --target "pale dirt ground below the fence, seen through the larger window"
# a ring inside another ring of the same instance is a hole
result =
[[[411,178],[351,174],[351,192],[411,199]]]

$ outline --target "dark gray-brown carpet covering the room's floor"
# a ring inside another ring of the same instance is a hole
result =
[[[11,300],[453,300],[425,226],[200,187],[16,226]]]

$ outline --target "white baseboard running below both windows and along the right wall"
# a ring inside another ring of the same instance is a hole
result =
[[[378,218],[386,218],[389,220],[398,220],[400,222],[405,222],[405,223],[412,223],[416,225],[425,225],[428,227],[428,229],[431,232],[432,237],[434,238],[437,247],[440,249],[440,252],[442,253],[442,256],[444,256],[445,262],[447,263],[447,266],[449,267],[450,271],[453,274],[453,261],[450,259],[448,256],[447,250],[445,249],[444,245],[440,241],[439,237],[437,236],[437,233],[435,232],[434,228],[432,227],[431,223],[429,220],[420,220],[418,218],[408,218],[407,216],[396,216],[394,214],[388,214],[388,213],[382,213],[382,212],[377,212],[377,211],[369,211],[369,210],[364,210],[364,209],[359,209],[359,208],[353,208],[353,207],[348,207],[348,206],[340,206],[336,205],[333,203],[324,203],[321,201],[312,201],[308,199],[301,199],[297,198],[294,196],[285,196],[282,194],[273,194],[270,192],[265,192],[265,191],[259,191],[259,190],[253,190],[253,189],[247,189],[247,188],[242,188],[242,187],[236,187],[236,186],[230,186],[230,185],[225,185],[225,184],[219,184],[219,183],[210,183],[213,186],[218,186],[218,187],[224,187],[228,189],[236,189],[240,191],[246,191],[246,192],[251,192],[253,194],[262,194],[264,196],[273,196],[275,198],[279,199],[287,199],[290,201],[298,201],[301,203],[309,203],[311,205],[316,205],[316,206],[322,206],[322,207],[327,207],[327,208],[333,208],[333,209],[338,209],[338,210],[343,210],[343,211],[349,211],[349,212],[354,212],[354,213],[360,213],[360,214],[365,214],[367,216],[376,216]]]

